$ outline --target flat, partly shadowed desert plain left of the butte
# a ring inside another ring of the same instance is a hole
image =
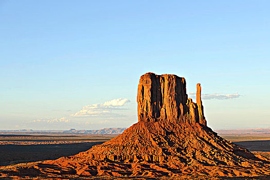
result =
[[[115,135],[69,133],[2,133],[0,166],[56,159],[86,151]]]

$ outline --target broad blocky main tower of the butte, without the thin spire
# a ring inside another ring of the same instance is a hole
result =
[[[147,73],[140,78],[137,102],[139,121],[181,119],[187,103],[185,78]]]

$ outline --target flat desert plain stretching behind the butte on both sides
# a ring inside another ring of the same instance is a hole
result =
[[[1,133],[0,134],[0,166],[8,166],[33,161],[57,159],[62,156],[75,155],[86,151],[92,146],[99,145],[116,135],[101,134],[71,134],[71,133]],[[236,143],[237,145],[270,158],[270,134],[239,135],[221,134],[223,138]],[[202,177],[200,177],[201,179]],[[6,179],[0,177],[0,179]],[[50,179],[50,178],[39,178]],[[62,178],[59,178],[62,179]],[[84,179],[74,178],[74,179]],[[85,179],[130,179],[129,177],[85,177]],[[156,178],[137,178],[156,179]],[[194,176],[159,179],[196,179]],[[205,177],[205,179],[208,179]],[[217,178],[219,179],[219,178]],[[222,179],[247,179],[230,178]],[[248,179],[263,179],[263,177],[250,177]]]

